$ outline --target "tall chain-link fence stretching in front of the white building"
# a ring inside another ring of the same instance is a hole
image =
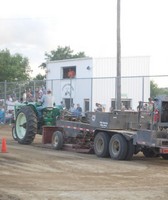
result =
[[[24,93],[30,92],[31,101],[37,101],[46,88],[53,91],[56,104],[64,101],[69,108],[72,103],[79,103],[84,111],[93,111],[98,102],[106,111],[116,106],[116,77],[86,79],[55,79],[45,81],[0,82],[1,105],[10,95],[13,101],[20,101]],[[150,83],[163,87],[168,94],[168,75],[121,77],[121,100],[126,109],[136,109],[139,101],[147,101],[150,96]],[[40,94],[41,93],[41,94]],[[162,93],[162,94],[163,94]]]

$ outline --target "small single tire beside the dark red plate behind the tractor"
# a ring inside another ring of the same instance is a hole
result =
[[[52,135],[52,147],[56,150],[60,150],[63,147],[64,138],[60,131],[55,131]]]

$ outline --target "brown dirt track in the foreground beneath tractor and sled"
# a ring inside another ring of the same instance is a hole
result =
[[[0,126],[7,153],[0,153],[0,200],[168,199],[168,160],[100,159],[91,154],[55,151],[13,140],[10,126]]]

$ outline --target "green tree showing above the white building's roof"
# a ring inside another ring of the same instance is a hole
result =
[[[84,52],[78,52],[76,54],[74,54],[73,52],[74,51],[71,50],[69,46],[65,47],[58,46],[56,50],[52,50],[50,51],[50,53],[45,53],[45,60],[52,61],[52,60],[64,60],[64,59],[86,57]],[[46,63],[42,63],[39,67],[45,69]]]

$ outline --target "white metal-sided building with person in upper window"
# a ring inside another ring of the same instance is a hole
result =
[[[109,111],[115,107],[116,58],[78,58],[47,63],[47,87],[53,90],[56,104],[64,101],[67,108],[79,103],[84,111],[94,110],[98,102]],[[75,77],[69,78],[73,70]],[[129,109],[150,96],[149,57],[121,59],[121,100]]]

